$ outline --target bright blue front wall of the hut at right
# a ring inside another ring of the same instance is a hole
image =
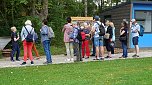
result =
[[[136,18],[135,11],[145,11],[145,12],[148,11],[148,12],[152,13],[152,2],[149,2],[149,3],[133,3],[132,16],[131,16],[132,18]],[[146,16],[146,15],[142,15],[142,16]],[[149,20],[151,20],[151,22],[152,22],[152,18],[149,19]],[[151,25],[150,27],[152,29],[152,23],[146,22],[145,25],[146,24]],[[145,29],[147,29],[147,28],[145,28]],[[142,48],[152,47],[151,40],[152,40],[152,31],[151,32],[145,32],[143,37],[139,37],[139,47],[142,47]],[[130,48],[134,48],[132,42],[130,42]]]

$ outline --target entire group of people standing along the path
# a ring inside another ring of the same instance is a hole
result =
[[[88,22],[82,24],[72,21],[71,17],[68,17],[67,23],[64,25],[62,32],[64,32],[64,43],[66,47],[67,59],[66,61],[83,61],[83,58],[88,59],[90,56],[95,56],[94,60],[104,60],[105,58],[114,57],[115,47],[115,26],[114,23],[106,20],[105,23],[100,22],[99,16],[93,17],[93,24],[90,25]],[[51,64],[51,52],[50,43],[51,38],[49,37],[49,27],[47,26],[48,21],[44,19],[42,21],[42,27],[40,29],[41,42],[43,44],[44,52],[46,54],[46,62],[44,64]],[[131,28],[132,41],[135,46],[136,54],[133,57],[139,57],[138,38],[140,26],[135,19],[131,20],[131,27],[128,27],[126,21],[122,21],[120,28],[119,40],[122,44],[123,53],[119,58],[127,58],[127,38],[128,29]],[[37,33],[32,27],[32,22],[27,20],[25,25],[22,27],[22,31],[19,35],[16,27],[11,27],[11,39],[12,39],[12,52],[11,61],[14,61],[13,57],[16,53],[16,60],[19,60],[20,47],[18,41],[21,37],[24,50],[24,62],[21,65],[25,65],[27,59],[31,60],[31,64],[34,64],[32,49],[35,51],[37,58],[39,54],[36,50],[35,41],[37,40]],[[104,34],[101,32],[104,32]],[[90,44],[92,41],[93,53],[90,53]],[[104,55],[104,47],[106,47],[108,55]],[[76,58],[74,58],[76,56]]]

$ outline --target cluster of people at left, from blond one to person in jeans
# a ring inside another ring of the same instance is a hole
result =
[[[50,38],[48,36],[49,27],[47,26],[48,21],[44,19],[42,21],[42,27],[40,29],[41,34],[41,42],[43,44],[44,52],[46,54],[46,62],[44,64],[51,64],[51,52],[50,52]],[[21,34],[17,32],[16,27],[11,27],[11,41],[12,41],[12,52],[11,52],[11,61],[14,61],[13,57],[16,53],[16,60],[19,60],[20,56],[20,47],[19,47],[19,39],[21,37],[22,43],[23,43],[23,50],[24,50],[24,62],[21,63],[21,65],[25,65],[28,58],[31,60],[31,64],[34,64],[33,61],[33,55],[32,55],[32,49],[35,51],[35,54],[37,56],[37,59],[40,58],[40,55],[38,54],[38,51],[35,46],[35,41],[37,40],[38,36],[37,33],[34,31],[34,28],[32,27],[32,22],[30,20],[27,20],[25,22],[25,25],[22,27]]]

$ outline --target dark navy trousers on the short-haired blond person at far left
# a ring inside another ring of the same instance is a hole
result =
[[[12,44],[11,60],[14,60],[13,57],[15,55],[15,52],[16,52],[16,60],[18,60],[20,56],[20,47],[18,43]]]

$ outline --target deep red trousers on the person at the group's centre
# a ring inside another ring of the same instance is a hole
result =
[[[82,57],[90,56],[89,40],[82,41]]]

